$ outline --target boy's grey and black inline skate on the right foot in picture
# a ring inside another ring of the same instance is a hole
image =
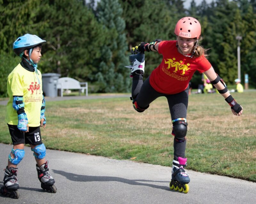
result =
[[[41,182],[41,188],[51,193],[56,193],[57,188],[53,185],[55,181],[51,174],[48,172],[48,163],[49,162],[46,161],[45,164],[42,164],[40,167],[36,164],[38,179]]]

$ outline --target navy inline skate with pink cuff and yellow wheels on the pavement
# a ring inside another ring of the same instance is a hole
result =
[[[190,182],[190,179],[187,172],[184,170],[185,166],[187,166],[187,158],[174,157],[172,163],[172,180],[170,182],[170,189],[188,193],[188,183]]]

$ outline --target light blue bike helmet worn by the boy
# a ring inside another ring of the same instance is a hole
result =
[[[17,38],[13,43],[13,51],[16,55],[22,57],[24,50],[29,50],[30,48],[36,47],[37,45],[46,42],[36,35],[25,34]]]

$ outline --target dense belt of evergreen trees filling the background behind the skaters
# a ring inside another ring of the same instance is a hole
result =
[[[0,0],[0,96],[6,96],[6,78],[19,62],[12,51],[19,36],[47,40],[42,73],[87,81],[91,92],[128,92],[124,65],[130,48],[156,38],[175,40],[175,24],[184,16],[200,21],[201,45],[210,48],[208,60],[226,84],[237,78],[236,36],[242,36],[242,83],[248,73],[250,87],[256,87],[256,0],[195,2],[185,9],[184,0]],[[146,53],[145,77],[160,61],[161,55]],[[200,82],[197,72],[192,85]]]

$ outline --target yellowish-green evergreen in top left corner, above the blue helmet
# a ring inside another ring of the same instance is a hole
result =
[[[0,1],[0,54],[9,53],[14,56],[13,42],[26,33],[38,34],[36,11],[39,1],[2,0]]]

